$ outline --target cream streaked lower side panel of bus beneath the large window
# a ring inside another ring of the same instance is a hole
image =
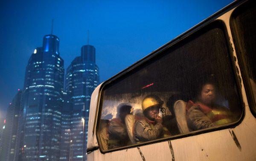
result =
[[[256,119],[245,107],[245,117],[235,128],[179,138],[102,154],[95,150],[88,161],[133,160],[256,160]],[[173,150],[173,152],[172,152]],[[141,153],[140,153],[141,152]],[[174,156],[174,157],[173,157]]]

